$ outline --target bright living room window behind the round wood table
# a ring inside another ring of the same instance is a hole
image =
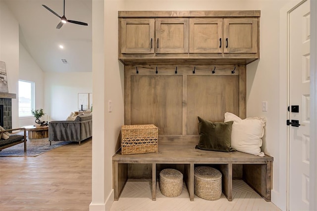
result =
[[[32,116],[34,109],[34,82],[19,80],[19,117]]]

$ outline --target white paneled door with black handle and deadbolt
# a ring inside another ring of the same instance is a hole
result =
[[[289,210],[309,210],[310,2],[289,13]],[[298,106],[298,111],[296,110]]]

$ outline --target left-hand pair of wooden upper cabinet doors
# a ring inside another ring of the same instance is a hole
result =
[[[122,57],[124,54],[188,53],[188,18],[123,18],[119,35]]]

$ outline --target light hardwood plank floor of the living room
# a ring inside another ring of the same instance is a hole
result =
[[[87,140],[37,157],[0,157],[0,211],[89,211],[91,152]]]

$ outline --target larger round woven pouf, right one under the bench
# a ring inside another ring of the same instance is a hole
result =
[[[210,166],[198,166],[194,171],[194,192],[206,200],[218,200],[221,197],[221,173]]]

